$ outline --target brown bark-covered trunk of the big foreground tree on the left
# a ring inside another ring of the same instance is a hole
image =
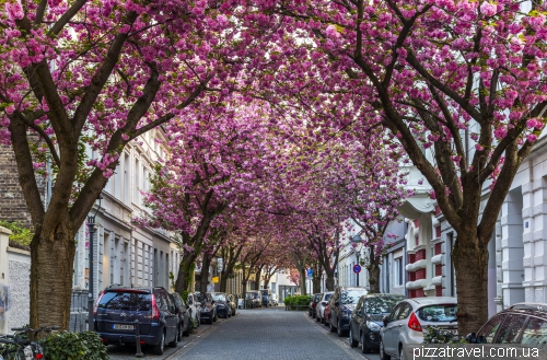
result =
[[[70,221],[63,221],[57,225],[55,232],[45,234],[37,231],[33,237],[30,324],[32,328],[60,326],[61,329],[68,329],[69,327],[75,254],[74,235]]]

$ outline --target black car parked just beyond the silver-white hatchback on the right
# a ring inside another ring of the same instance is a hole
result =
[[[349,346],[354,348],[361,344],[363,353],[380,348],[380,328],[384,325],[383,318],[405,295],[396,293],[370,293],[359,299],[351,313],[349,323]]]

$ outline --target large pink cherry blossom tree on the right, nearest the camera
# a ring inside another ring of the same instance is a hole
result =
[[[476,330],[488,316],[488,242],[515,172],[545,124],[543,3],[255,4],[270,24],[280,24],[274,42],[283,56],[271,65],[286,66],[279,82],[309,92],[309,106],[336,112],[341,125],[356,119],[356,114],[344,119],[353,107],[365,127],[389,129],[432,186],[457,232],[458,328],[462,334]],[[329,102],[313,101],[322,93],[352,100],[333,109]],[[488,187],[490,196],[482,202]]]

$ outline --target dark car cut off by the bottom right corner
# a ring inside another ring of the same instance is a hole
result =
[[[467,342],[547,344],[547,303],[517,303],[490,320],[466,337]]]

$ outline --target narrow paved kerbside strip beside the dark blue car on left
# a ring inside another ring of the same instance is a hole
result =
[[[186,348],[193,344],[195,340],[201,338],[202,336],[210,333],[216,326],[220,325],[221,322],[225,320],[219,318],[213,325],[201,324],[197,329],[190,333],[190,336],[183,337],[182,341],[178,342],[176,348],[170,348],[165,345],[165,350],[163,355],[153,355],[151,348],[143,347],[142,352],[144,356],[140,359],[173,359],[176,358],[177,353],[186,350]],[[119,346],[119,345],[109,345],[107,347],[108,356],[110,360],[129,360],[129,359],[139,359],[135,356],[136,347],[135,346]]]

